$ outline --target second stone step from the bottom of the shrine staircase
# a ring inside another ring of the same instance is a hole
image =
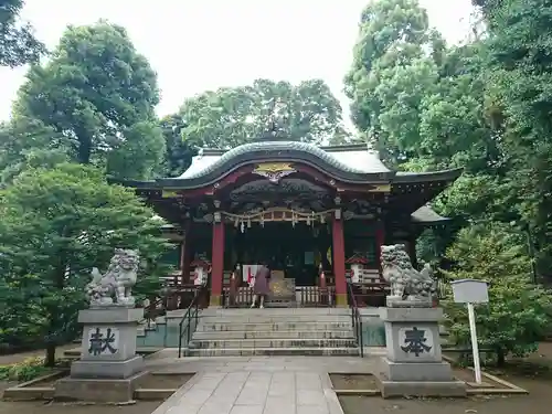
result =
[[[339,339],[212,339],[195,340],[190,348],[201,349],[243,349],[243,348],[354,348],[354,338]]]

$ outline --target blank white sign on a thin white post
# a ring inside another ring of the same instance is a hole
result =
[[[477,344],[476,311],[474,304],[488,304],[489,293],[487,282],[476,279],[461,279],[450,283],[453,286],[454,301],[466,304],[468,307],[469,333],[471,337],[471,350],[474,352],[474,371],[476,383],[481,383],[481,364],[479,361],[479,347]]]

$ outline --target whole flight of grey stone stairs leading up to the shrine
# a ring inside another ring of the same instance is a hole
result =
[[[187,352],[221,355],[358,355],[348,309],[204,309]]]

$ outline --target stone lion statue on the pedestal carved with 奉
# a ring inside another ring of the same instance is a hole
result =
[[[388,302],[404,301],[432,305],[435,280],[429,264],[418,272],[411,263],[404,244],[381,246],[383,278],[391,285]],[[389,306],[389,305],[388,305]]]

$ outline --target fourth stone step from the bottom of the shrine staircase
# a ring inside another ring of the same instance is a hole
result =
[[[220,322],[220,321],[204,321],[202,320],[197,331],[330,331],[330,330],[349,330],[352,329],[351,321],[332,321],[332,322],[318,322],[318,321],[299,321],[299,322]]]

